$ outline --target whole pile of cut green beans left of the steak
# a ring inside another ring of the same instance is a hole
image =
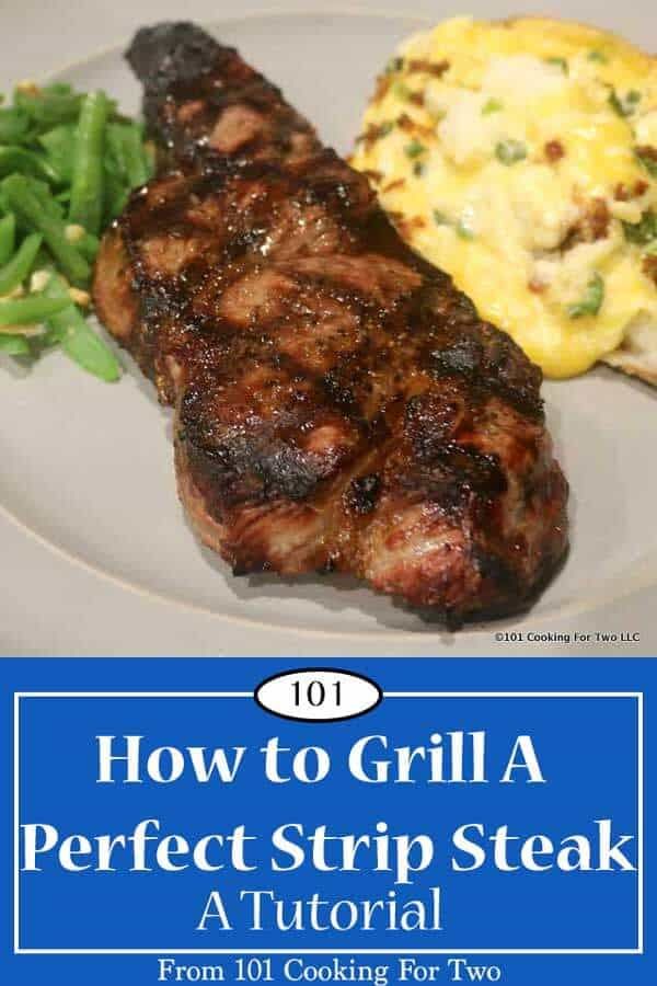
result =
[[[0,95],[0,353],[30,362],[59,347],[119,378],[88,290],[100,237],[152,171],[141,125],[103,91],[23,83],[10,105]]]

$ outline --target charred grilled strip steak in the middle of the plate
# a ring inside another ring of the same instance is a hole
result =
[[[527,605],[567,540],[540,370],[233,49],[162,24],[127,57],[159,176],[95,303],[175,408],[200,539],[235,574],[350,572],[451,624]]]

